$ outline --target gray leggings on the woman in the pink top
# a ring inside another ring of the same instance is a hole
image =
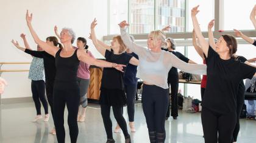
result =
[[[90,84],[90,79],[84,79],[84,78],[77,77],[77,82],[78,82],[79,88],[80,88],[80,105],[82,105],[82,107],[85,108],[88,105],[87,89]]]

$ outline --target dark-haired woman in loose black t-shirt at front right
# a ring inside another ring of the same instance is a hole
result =
[[[207,88],[201,115],[204,139],[206,143],[227,143],[232,141],[236,124],[235,98],[238,85],[244,78],[256,76],[256,68],[232,58],[237,49],[234,37],[222,35],[216,46],[212,34],[209,34],[209,42],[204,39],[196,18],[198,7],[191,10],[191,16],[207,61]]]

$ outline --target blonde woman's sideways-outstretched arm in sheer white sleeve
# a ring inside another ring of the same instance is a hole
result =
[[[175,55],[171,53],[169,53],[168,59],[171,61],[172,66],[182,71],[185,71],[191,74],[206,75],[206,69],[207,69],[206,65],[185,63],[184,61],[180,60],[179,58],[177,58]]]

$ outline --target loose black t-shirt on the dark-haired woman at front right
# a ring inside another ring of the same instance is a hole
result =
[[[236,111],[238,85],[245,78],[252,78],[256,68],[236,61],[233,58],[222,60],[209,47],[207,61],[207,88],[203,106],[218,113]]]

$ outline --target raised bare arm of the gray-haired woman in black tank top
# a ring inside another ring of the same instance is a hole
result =
[[[32,24],[31,24],[32,13],[29,16],[28,10],[26,13],[26,21],[27,21],[27,26],[29,27],[30,33],[31,33],[32,37],[34,38],[35,43],[37,43],[45,52],[48,52],[49,54],[51,54],[55,57],[55,54],[59,51],[59,47],[51,46],[51,45],[47,44],[46,42],[40,40],[37,33],[35,33],[35,30],[32,27]]]

